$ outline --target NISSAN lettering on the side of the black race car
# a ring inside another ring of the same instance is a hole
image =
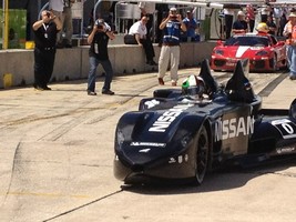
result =
[[[239,135],[248,135],[253,132],[254,117],[251,115],[228,120],[218,118],[215,122],[215,142]]]

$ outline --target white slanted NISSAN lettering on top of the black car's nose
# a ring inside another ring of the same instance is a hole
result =
[[[194,104],[177,104],[164,112],[149,129],[150,132],[165,132],[170,124],[185,110]]]

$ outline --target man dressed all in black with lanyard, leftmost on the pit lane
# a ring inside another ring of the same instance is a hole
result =
[[[33,23],[34,31],[34,88],[51,90],[48,87],[55,58],[57,33],[62,23],[51,11],[42,11],[41,20]]]

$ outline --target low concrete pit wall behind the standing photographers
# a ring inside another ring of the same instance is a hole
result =
[[[196,67],[203,59],[210,59],[215,42],[197,42],[181,44],[180,68]],[[161,48],[155,44],[155,61],[157,62]],[[145,63],[144,51],[139,46],[110,44],[109,56],[115,75],[152,72],[157,67]],[[0,51],[0,89],[18,85],[31,85],[34,80],[33,50],[1,50]],[[89,47],[59,49],[52,74],[53,81],[65,81],[88,78]],[[99,67],[98,74],[102,73]],[[11,82],[10,82],[11,78]]]

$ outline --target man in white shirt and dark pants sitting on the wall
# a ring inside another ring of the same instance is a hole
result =
[[[129,34],[134,36],[135,41],[139,46],[144,48],[146,54],[146,63],[151,65],[156,65],[156,62],[153,60],[155,57],[154,48],[150,38],[146,37],[147,33],[147,17],[142,17],[140,21],[135,22],[129,31]]]

